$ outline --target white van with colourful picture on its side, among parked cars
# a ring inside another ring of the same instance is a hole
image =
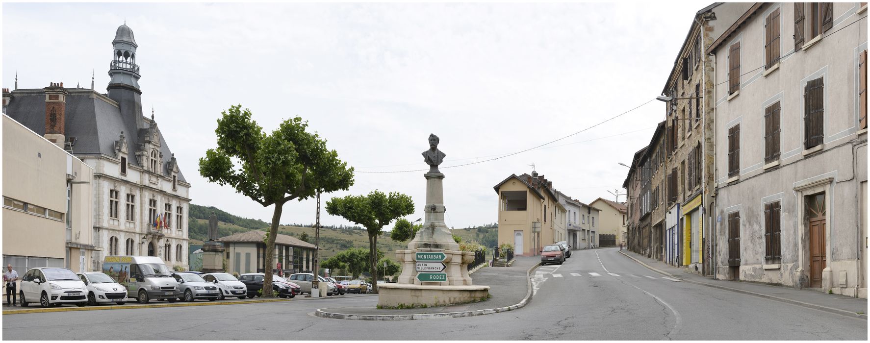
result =
[[[178,282],[156,256],[106,256],[103,273],[127,287],[129,296],[141,304],[151,299],[175,302],[181,297]]]

